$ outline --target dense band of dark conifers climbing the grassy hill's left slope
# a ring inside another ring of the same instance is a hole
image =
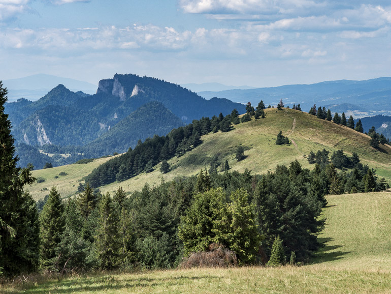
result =
[[[86,182],[96,188],[113,183],[125,181],[137,174],[153,170],[158,162],[169,160],[174,156],[182,156],[201,144],[201,136],[210,132],[229,132],[232,124],[251,121],[251,116],[265,117],[265,104],[261,100],[256,110],[247,104],[246,114],[239,119],[239,112],[234,109],[231,114],[223,116],[220,113],[212,119],[202,117],[201,120],[193,120],[191,124],[172,130],[167,136],[154,136],[144,142],[139,141],[135,149],[129,148],[128,152],[120,157],[113,158],[95,168],[87,177]]]

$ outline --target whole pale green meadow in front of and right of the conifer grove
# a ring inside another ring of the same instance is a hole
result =
[[[83,275],[26,284],[25,293],[283,292],[387,293],[391,288],[391,193],[328,196],[321,241],[302,267],[244,267]],[[0,288],[0,290],[2,290]],[[12,292],[20,288],[3,288]]]

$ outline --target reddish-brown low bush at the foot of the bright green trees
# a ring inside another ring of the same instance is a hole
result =
[[[235,252],[216,243],[209,245],[208,251],[191,253],[184,258],[179,268],[190,269],[194,267],[227,268],[238,264]]]

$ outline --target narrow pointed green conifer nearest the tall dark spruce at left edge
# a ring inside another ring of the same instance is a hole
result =
[[[41,222],[41,268],[50,269],[55,263],[55,248],[61,241],[61,235],[65,227],[63,216],[64,205],[56,188],[50,190],[48,201],[45,203],[40,215]]]

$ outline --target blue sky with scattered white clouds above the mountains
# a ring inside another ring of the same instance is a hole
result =
[[[389,0],[0,0],[0,80],[256,87],[391,76]]]

